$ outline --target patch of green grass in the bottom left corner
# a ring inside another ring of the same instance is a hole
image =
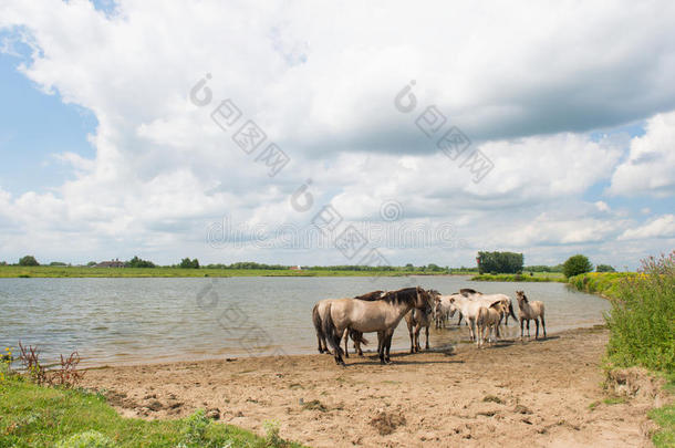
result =
[[[37,386],[18,376],[0,383],[0,447],[299,446],[268,426],[262,438],[212,423],[204,410],[179,420],[124,418],[97,394]]]

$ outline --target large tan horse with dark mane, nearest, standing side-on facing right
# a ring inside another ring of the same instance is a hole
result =
[[[430,302],[429,293],[419,286],[386,292],[382,299],[372,302],[359,299],[331,301],[323,319],[323,333],[333,348],[335,363],[344,365],[340,342],[346,329],[361,334],[376,332],[380,362],[391,363],[392,336],[396,325],[413,308],[425,310]]]

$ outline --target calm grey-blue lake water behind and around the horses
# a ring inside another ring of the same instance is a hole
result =
[[[79,351],[83,365],[316,353],[314,302],[412,284],[444,294],[460,288],[525,290],[547,308],[547,330],[602,323],[609,303],[563,283],[471,282],[463,277],[0,279],[0,348],[38,345],[45,361]],[[467,340],[466,326],[430,332],[432,348]],[[532,336],[534,326],[531,325]],[[510,324],[507,336],[518,333]],[[376,335],[366,335],[376,344]],[[405,321],[392,350],[409,347]],[[350,347],[351,350],[351,347]]]

